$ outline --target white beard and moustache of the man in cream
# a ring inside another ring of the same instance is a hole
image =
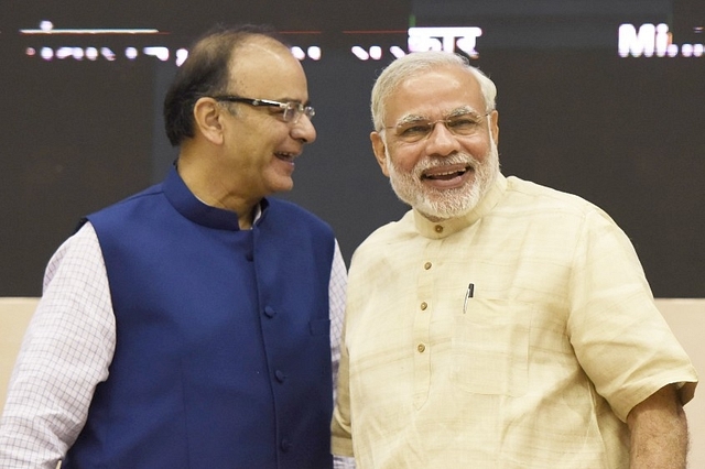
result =
[[[401,172],[384,149],[389,182],[400,200],[409,204],[431,220],[445,220],[470,212],[492,186],[499,174],[499,152],[490,138],[490,149],[482,163],[467,153],[423,159],[412,171]],[[453,189],[435,189],[422,184],[421,175],[430,167],[465,164],[475,172],[471,183]]]

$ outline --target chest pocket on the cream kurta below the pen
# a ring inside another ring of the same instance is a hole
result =
[[[454,317],[453,381],[476,394],[520,396],[527,392],[533,306],[471,298]]]

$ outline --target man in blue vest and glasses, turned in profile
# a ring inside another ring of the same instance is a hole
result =
[[[316,138],[269,33],[204,36],[164,101],[162,184],[54,254],[0,424],[0,467],[333,467],[346,273],[330,228],[269,195]]]

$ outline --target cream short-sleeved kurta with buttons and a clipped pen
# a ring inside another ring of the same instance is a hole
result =
[[[466,217],[409,211],[356,251],[333,450],[359,469],[626,468],[629,411],[696,381],[617,225],[500,175]]]

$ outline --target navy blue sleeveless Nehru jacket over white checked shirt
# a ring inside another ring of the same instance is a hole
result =
[[[117,347],[63,468],[330,468],[330,228],[269,199],[241,231],[175,170],[88,219]]]

